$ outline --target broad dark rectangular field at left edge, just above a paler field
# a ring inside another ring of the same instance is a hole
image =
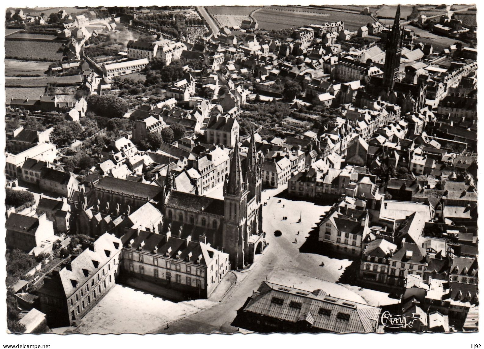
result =
[[[58,61],[63,57],[62,52],[58,52],[61,47],[59,42],[6,40],[5,57]]]

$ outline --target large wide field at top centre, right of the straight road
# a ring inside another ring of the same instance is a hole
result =
[[[344,21],[348,30],[357,30],[371,22],[367,15],[304,7],[271,6],[254,13],[260,29],[281,30],[308,24]]]

